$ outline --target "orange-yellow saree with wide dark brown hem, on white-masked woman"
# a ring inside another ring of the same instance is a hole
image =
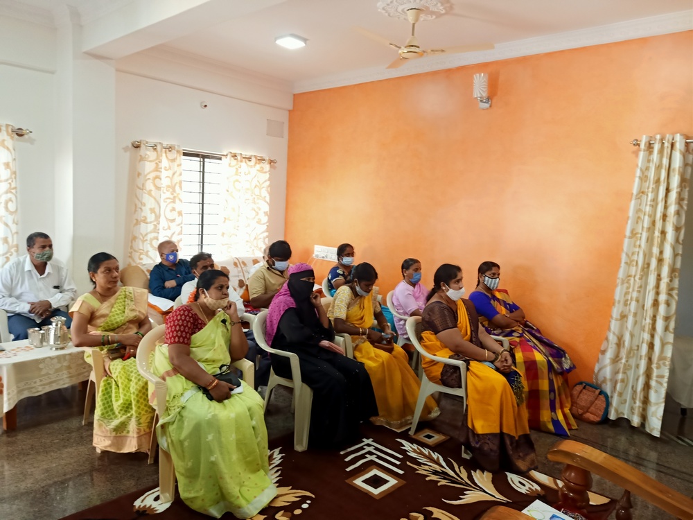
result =
[[[457,328],[466,341],[472,340],[472,323],[462,300],[457,301]],[[480,346],[480,345],[477,345]],[[421,347],[429,354],[449,357],[453,352],[437,338],[435,333],[421,333]],[[423,364],[430,381],[442,384],[440,374],[443,363],[427,360]],[[521,379],[516,370],[501,374],[480,361],[467,365],[466,420],[462,428],[462,443],[477,462],[488,471],[507,469],[525,473],[536,467],[534,443],[529,435],[527,407],[518,396]],[[516,388],[514,388],[516,387]]]

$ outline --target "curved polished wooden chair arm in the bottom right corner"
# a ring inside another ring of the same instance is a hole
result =
[[[549,450],[547,458],[606,478],[676,518],[693,519],[693,499],[603,451],[574,440],[559,440]]]

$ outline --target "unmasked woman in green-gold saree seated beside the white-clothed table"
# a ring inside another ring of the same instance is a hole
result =
[[[148,451],[154,408],[149,404],[147,381],[137,372],[134,358],[137,345],[152,328],[147,315],[148,293],[118,286],[120,268],[112,254],[95,254],[87,270],[94,290],[80,296],[70,309],[72,343],[102,351],[116,345],[125,347],[123,358],[104,355],[107,376],[96,397],[94,446],[97,451]],[[91,364],[91,351],[85,359]]]

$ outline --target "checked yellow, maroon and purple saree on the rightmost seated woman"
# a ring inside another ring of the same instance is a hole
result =
[[[509,315],[508,306],[514,305],[505,291],[493,291],[491,303],[502,315]],[[525,402],[529,426],[557,435],[570,435],[577,428],[570,413],[570,390],[566,374],[574,369],[570,356],[541,331],[527,322],[525,327],[498,329],[489,320],[480,317],[489,333],[503,336],[510,342],[512,354],[525,381]]]

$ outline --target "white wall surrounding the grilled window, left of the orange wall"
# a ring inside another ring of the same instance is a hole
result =
[[[200,107],[202,101],[209,103],[207,109]],[[283,121],[285,137],[267,137],[267,119]],[[121,263],[128,257],[134,184],[131,165],[137,155],[131,141],[146,139],[277,159],[270,173],[269,234],[273,241],[284,235],[287,135],[288,110],[116,72],[116,245],[122,244],[123,249],[114,254]]]

